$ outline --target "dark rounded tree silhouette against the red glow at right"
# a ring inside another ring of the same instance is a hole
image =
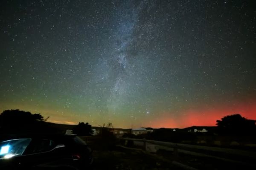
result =
[[[216,121],[219,133],[225,134],[249,134],[255,132],[256,120],[242,117],[240,114],[224,116]]]

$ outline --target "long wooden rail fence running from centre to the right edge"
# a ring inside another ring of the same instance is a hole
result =
[[[249,167],[256,169],[256,152],[240,149],[230,149],[230,148],[221,148],[221,147],[209,147],[209,146],[200,146],[193,144],[180,144],[172,142],[161,142],[155,140],[146,140],[146,139],[133,139],[133,138],[118,138],[123,141],[134,141],[134,142],[143,142],[141,146],[143,150],[147,150],[148,145],[154,145],[156,150],[170,150],[175,156],[178,153],[183,153],[187,155],[193,155],[198,157],[205,157],[211,159],[217,159],[221,161],[227,161],[230,163],[243,164]]]

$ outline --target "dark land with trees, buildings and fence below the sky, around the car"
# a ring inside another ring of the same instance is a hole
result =
[[[94,157],[92,167],[96,170],[103,168],[102,164],[106,169],[118,170],[186,169],[190,166],[199,169],[254,167],[255,154],[246,157],[244,153],[244,156],[237,157],[239,159],[236,158],[236,154],[256,151],[256,121],[233,114],[216,120],[216,125],[183,129],[151,127],[122,129],[113,127],[112,123],[92,127],[84,122],[79,122],[78,125],[64,125],[47,122],[41,113],[33,114],[16,109],[6,110],[0,114],[0,140],[15,139],[23,134],[40,136],[45,133],[57,134],[69,131],[80,136],[92,147]],[[205,148],[200,146],[209,148],[203,151],[202,149]],[[186,147],[190,148],[189,152],[192,154],[182,151]],[[233,149],[234,155],[228,152],[219,155],[220,153],[215,153],[214,148],[218,152],[220,152],[218,148],[222,148],[224,152]],[[215,157],[209,159],[205,156],[207,154]],[[215,161],[224,167],[212,166]]]

